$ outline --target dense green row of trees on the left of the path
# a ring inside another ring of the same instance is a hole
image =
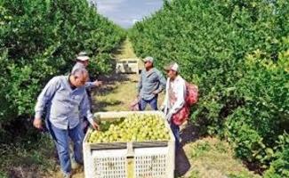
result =
[[[0,0],[0,142],[28,123],[38,93],[53,76],[68,74],[76,53],[89,53],[96,77],[109,71],[110,53],[125,36],[84,0]]]

